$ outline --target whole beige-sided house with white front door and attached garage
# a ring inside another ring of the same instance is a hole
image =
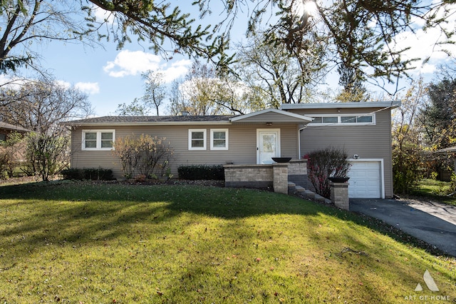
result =
[[[316,149],[338,146],[353,158],[358,155],[352,159],[352,197],[392,197],[390,116],[398,106],[399,102],[299,103],[239,116],[105,116],[70,121],[71,166],[112,168],[116,177],[122,176],[112,142],[132,133],[165,137],[175,151],[174,174],[181,165],[268,164],[274,156],[299,160]]]

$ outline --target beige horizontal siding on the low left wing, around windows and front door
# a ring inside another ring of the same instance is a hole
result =
[[[210,130],[227,128],[229,130],[229,149],[210,149]],[[82,130],[115,129],[115,137],[123,137],[135,133],[149,134],[150,136],[165,137],[175,153],[170,161],[172,174],[177,176],[177,167],[181,165],[207,164],[218,165],[225,163],[256,164],[257,163],[257,128],[281,129],[281,156],[298,157],[297,128],[294,123],[265,126],[264,124],[239,123],[236,125],[212,124],[191,126],[81,126],[72,134],[71,166],[73,168],[112,168],[115,177],[122,176],[120,163],[111,151],[81,151]],[[190,129],[206,129],[206,150],[189,150],[188,136]]]

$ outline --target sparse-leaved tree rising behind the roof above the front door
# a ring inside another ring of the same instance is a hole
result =
[[[273,108],[279,108],[281,103],[309,101],[309,92],[315,92],[315,86],[326,74],[327,39],[309,33],[303,39],[313,44],[312,49],[290,53],[281,45],[265,43],[269,38],[264,32],[258,33],[248,44],[239,46],[239,78],[257,88]]]

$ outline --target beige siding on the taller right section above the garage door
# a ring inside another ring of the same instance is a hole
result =
[[[301,133],[301,156],[311,151],[334,146],[345,148],[348,157],[356,154],[360,161],[366,158],[381,158],[384,161],[385,197],[393,197],[393,168],[391,164],[391,113],[390,109],[380,108],[340,108],[328,110],[295,110],[301,115],[318,114],[356,114],[375,112],[375,125],[343,126],[311,126]]]

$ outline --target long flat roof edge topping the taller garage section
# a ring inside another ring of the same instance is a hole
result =
[[[318,108],[398,108],[400,101],[333,102],[333,103],[282,103],[281,110]]]

